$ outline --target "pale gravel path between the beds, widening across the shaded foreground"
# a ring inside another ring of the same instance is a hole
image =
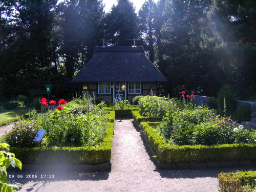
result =
[[[17,191],[217,192],[219,173],[256,168],[157,169],[141,138],[140,130],[133,126],[133,119],[116,119],[114,132],[111,171],[71,173],[10,170],[8,175],[13,178],[9,178],[8,182],[18,185],[20,189]],[[23,178],[18,178],[21,175]],[[33,176],[37,178],[29,178]]]

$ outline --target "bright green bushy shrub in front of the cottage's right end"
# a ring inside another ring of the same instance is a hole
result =
[[[138,102],[139,113],[145,117],[163,117],[168,106],[166,97],[146,95]]]

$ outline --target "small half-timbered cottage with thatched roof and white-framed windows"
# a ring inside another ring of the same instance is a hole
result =
[[[155,94],[161,81],[167,79],[147,59],[142,46],[95,47],[92,59],[72,80],[80,83],[81,91],[111,102],[123,97],[131,101],[151,90]]]

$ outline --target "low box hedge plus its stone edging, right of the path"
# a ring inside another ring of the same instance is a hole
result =
[[[242,166],[254,164],[256,161],[255,144],[170,145],[148,122],[141,122],[140,128],[156,154],[159,168],[190,168],[197,165],[201,167]]]

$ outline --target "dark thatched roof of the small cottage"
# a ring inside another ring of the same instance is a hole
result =
[[[167,81],[142,46],[95,47],[93,58],[72,82]]]

